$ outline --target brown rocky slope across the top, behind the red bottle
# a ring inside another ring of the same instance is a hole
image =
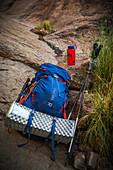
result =
[[[26,5],[27,4],[27,5]],[[56,32],[44,39],[66,53],[68,45],[77,45],[77,56],[88,57],[95,41],[98,20],[112,15],[111,0],[4,0],[0,10],[32,28],[49,20]],[[63,59],[57,54],[57,60]]]

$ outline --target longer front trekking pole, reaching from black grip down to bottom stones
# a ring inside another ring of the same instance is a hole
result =
[[[84,87],[83,89],[83,94],[82,94],[82,97],[81,97],[81,102],[80,102],[80,106],[79,106],[79,109],[78,109],[78,114],[77,114],[77,118],[76,118],[76,122],[75,122],[75,129],[74,129],[74,137],[72,138],[71,140],[71,143],[70,143],[70,147],[69,147],[69,150],[68,150],[68,153],[67,153],[67,159],[66,159],[66,164],[67,164],[67,161],[69,161],[69,164],[72,164],[72,156],[73,156],[73,149],[74,149],[74,145],[75,145],[75,140],[76,140],[76,128],[77,128],[77,123],[78,123],[78,118],[79,118],[79,115],[80,115],[80,110],[81,110],[81,107],[82,107],[82,102],[83,102],[83,98],[84,98],[84,93],[85,93],[85,90],[86,90],[86,86],[87,86],[87,81],[88,81],[88,77],[89,77],[89,74],[91,72],[91,69],[93,67],[93,64],[95,62],[95,59],[96,57],[99,55],[99,52],[101,50],[101,45],[99,46],[98,48],[98,44],[94,44],[93,46],[93,52],[92,52],[92,57],[91,57],[91,62],[90,62],[90,65],[89,65],[89,69],[88,69],[88,73],[87,73],[87,76],[86,76],[86,79],[81,87],[81,90],[82,91],[82,88]],[[80,92],[81,93],[81,92]],[[80,96],[80,94],[78,95]],[[78,98],[77,96],[77,98]],[[75,101],[76,103],[76,101]],[[75,106],[75,103],[73,106]],[[74,108],[73,108],[74,109]],[[66,165],[65,164],[65,165]]]

